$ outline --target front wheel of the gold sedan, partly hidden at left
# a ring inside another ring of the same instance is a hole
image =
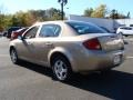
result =
[[[11,50],[10,50],[10,58],[11,58],[11,61],[12,61],[14,64],[18,64],[18,63],[20,62],[16,49],[11,49]]]

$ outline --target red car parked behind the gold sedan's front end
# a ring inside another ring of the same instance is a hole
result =
[[[18,38],[19,36],[21,36],[27,29],[28,29],[28,27],[27,27],[27,28],[21,28],[21,29],[16,30],[16,31],[12,31],[10,39],[11,39],[11,40],[17,39],[17,38]]]

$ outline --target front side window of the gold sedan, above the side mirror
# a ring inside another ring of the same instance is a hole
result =
[[[24,38],[25,39],[31,39],[31,38],[35,38],[35,34],[39,30],[39,27],[33,27],[31,28],[30,30],[28,30],[25,33],[24,33]]]

